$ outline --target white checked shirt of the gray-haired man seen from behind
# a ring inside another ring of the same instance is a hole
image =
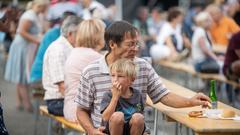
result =
[[[64,66],[73,47],[63,36],[54,41],[44,55],[43,88],[44,100],[63,98],[56,83],[64,81]]]

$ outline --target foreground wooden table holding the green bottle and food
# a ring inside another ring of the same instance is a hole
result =
[[[184,97],[192,97],[196,93],[162,78],[163,83],[173,93]],[[168,117],[194,130],[196,135],[240,135],[240,121],[234,120],[214,120],[209,118],[190,118],[188,112],[193,110],[202,110],[201,107],[190,107],[175,109],[163,105],[162,103],[152,104],[150,98],[147,98],[147,104],[161,111]],[[230,108],[240,115],[240,110],[218,102],[219,108]]]

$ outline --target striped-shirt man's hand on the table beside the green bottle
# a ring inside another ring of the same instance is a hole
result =
[[[210,98],[203,93],[197,93],[195,96],[190,98],[190,104],[192,106],[202,105],[203,107],[207,107],[209,102],[211,102]]]

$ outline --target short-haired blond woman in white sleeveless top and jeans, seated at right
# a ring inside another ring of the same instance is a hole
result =
[[[200,12],[196,18],[195,22],[197,27],[194,30],[192,37],[192,58],[195,70],[198,72],[211,72],[211,69],[216,67],[216,72],[218,72],[220,65],[217,61],[222,61],[223,57],[216,56],[212,50],[212,42],[210,36],[208,35],[208,30],[212,24],[212,19],[207,12]],[[210,63],[211,67],[208,66]],[[206,70],[206,71],[205,71]]]

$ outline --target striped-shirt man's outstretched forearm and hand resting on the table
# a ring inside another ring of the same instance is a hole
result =
[[[202,93],[197,93],[192,98],[185,98],[172,92],[169,92],[167,95],[162,97],[160,101],[163,104],[174,108],[192,107],[198,105],[207,106],[208,102],[211,102],[210,99]]]

